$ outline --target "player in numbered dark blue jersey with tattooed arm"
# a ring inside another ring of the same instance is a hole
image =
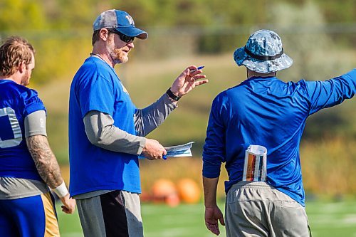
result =
[[[59,236],[48,186],[64,212],[75,209],[47,141],[46,108],[26,88],[34,53],[18,36],[0,46],[0,236]]]

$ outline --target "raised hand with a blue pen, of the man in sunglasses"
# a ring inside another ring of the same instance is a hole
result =
[[[193,71],[193,72],[192,72]],[[183,95],[189,93],[198,85],[203,85],[208,83],[206,75],[201,74],[202,70],[197,70],[197,67],[194,65],[186,68],[172,84],[171,91],[174,95],[182,97]],[[203,80],[201,80],[203,79]]]

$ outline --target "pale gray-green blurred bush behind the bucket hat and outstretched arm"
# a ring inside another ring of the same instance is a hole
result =
[[[315,3],[278,4],[270,14],[273,27],[282,32],[285,52],[293,58],[293,67],[282,71],[282,75],[288,73],[290,80],[326,80],[325,75],[331,77],[352,68],[350,57],[340,53],[340,45],[323,29],[325,17]],[[295,23],[305,27],[298,28]]]

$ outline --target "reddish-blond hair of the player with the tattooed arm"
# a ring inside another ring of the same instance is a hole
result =
[[[30,64],[32,54],[35,54],[35,49],[25,38],[19,36],[6,38],[0,46],[0,76],[13,75],[23,61],[25,65]]]

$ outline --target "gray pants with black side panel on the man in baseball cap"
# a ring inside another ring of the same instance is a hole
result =
[[[76,201],[85,237],[143,236],[138,194],[115,190]]]

